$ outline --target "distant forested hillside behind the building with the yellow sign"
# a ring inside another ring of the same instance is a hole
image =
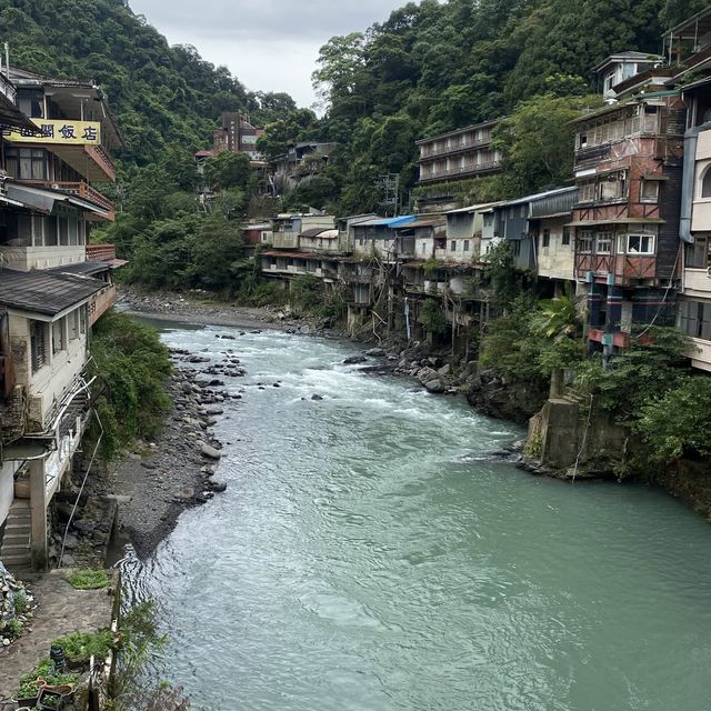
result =
[[[158,161],[170,143],[209,146],[224,110],[268,122],[296,108],[286,94],[248,92],[192,47],[169,47],[121,0],[0,0],[0,28],[12,64],[102,87],[124,134],[120,159],[128,167]]]

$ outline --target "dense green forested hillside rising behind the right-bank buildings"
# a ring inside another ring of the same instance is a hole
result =
[[[534,97],[583,96],[593,88],[591,68],[608,54],[660,52],[661,33],[705,4],[423,0],[332,38],[313,76],[327,108],[320,138],[340,143],[323,198],[347,212],[375,208],[375,176],[399,172],[405,191],[414,183],[415,139],[510,114]],[[549,182],[541,178],[534,187]]]

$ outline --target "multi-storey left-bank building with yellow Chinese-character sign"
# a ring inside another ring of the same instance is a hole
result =
[[[0,153],[0,558],[43,568],[47,510],[90,412],[89,328],[113,303],[122,263],[112,246],[87,244],[93,222],[113,219],[90,183],[114,179],[121,137],[92,82],[11,79],[33,128],[6,123]]]

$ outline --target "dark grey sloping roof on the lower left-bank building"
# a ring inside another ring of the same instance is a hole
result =
[[[57,316],[80,304],[106,284],[93,277],[51,270],[0,271],[0,303],[21,311]]]

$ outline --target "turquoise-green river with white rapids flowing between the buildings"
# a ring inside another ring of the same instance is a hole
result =
[[[522,432],[342,364],[352,344],[163,339],[248,370],[227,492],[126,570],[192,709],[711,709],[711,529],[678,501],[488,461]]]

